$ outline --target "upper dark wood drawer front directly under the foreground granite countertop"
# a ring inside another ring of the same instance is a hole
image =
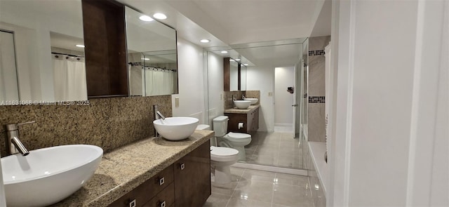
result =
[[[161,192],[162,189],[171,183],[173,183],[173,165],[168,166],[157,175],[149,178],[149,180],[142,183],[142,185],[139,185],[124,196],[121,196],[120,199],[117,199],[109,206],[132,207],[133,204],[130,205],[132,202],[135,203],[134,206],[136,207],[143,206],[143,204],[147,203],[150,199],[152,199],[152,197]]]

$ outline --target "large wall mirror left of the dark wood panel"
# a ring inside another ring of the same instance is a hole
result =
[[[2,105],[87,100],[81,0],[0,1]]]

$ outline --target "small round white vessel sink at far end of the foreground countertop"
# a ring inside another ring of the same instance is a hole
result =
[[[192,117],[167,117],[153,121],[156,131],[167,140],[184,140],[194,133],[199,120]]]

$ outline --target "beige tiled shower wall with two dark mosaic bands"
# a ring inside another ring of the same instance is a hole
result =
[[[311,142],[326,142],[324,47],[330,36],[309,38],[309,133]]]

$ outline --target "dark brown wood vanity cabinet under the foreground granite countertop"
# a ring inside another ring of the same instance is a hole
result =
[[[209,196],[210,143],[207,141],[109,206],[203,206]]]

